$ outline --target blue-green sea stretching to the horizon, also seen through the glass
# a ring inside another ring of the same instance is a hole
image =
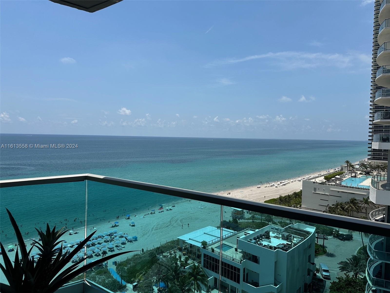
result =
[[[0,145],[17,143],[77,144],[78,148],[2,148],[3,180],[93,173],[206,192],[297,177],[367,157],[367,141],[0,134]],[[96,182],[89,183],[88,196],[91,225],[175,200]],[[23,224],[22,232],[45,219],[67,218],[71,226],[81,226],[85,184],[2,188],[0,202],[2,238],[7,232],[13,234],[4,225],[9,222],[5,207]]]

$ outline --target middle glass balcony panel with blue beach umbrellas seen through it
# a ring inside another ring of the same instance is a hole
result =
[[[144,281],[140,282],[140,291],[151,292],[152,286],[156,289],[157,279],[162,279],[161,287],[174,286],[176,280],[170,277],[178,280],[193,266],[201,267],[202,241],[219,246],[220,205],[90,180],[87,191],[87,234],[96,231],[97,236],[89,245],[93,253],[88,262],[137,250],[86,273],[87,279],[111,291],[125,291],[141,272]],[[217,253],[209,252],[219,260]],[[218,272],[215,265],[210,268]],[[215,289],[214,281],[210,288]]]

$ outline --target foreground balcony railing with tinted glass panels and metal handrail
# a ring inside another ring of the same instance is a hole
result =
[[[74,251],[95,232],[74,262],[86,257],[85,265],[115,252],[135,251],[71,280],[90,280],[113,292],[131,291],[133,285],[143,292],[179,286],[175,278],[192,273],[204,280],[203,291],[246,291],[246,282],[253,280],[267,292],[296,292],[302,282],[314,282],[326,293],[330,281],[314,272],[320,262],[335,280],[340,261],[366,251],[362,245],[369,239],[360,232],[379,239],[390,230],[387,223],[90,174],[2,180],[0,187],[0,237],[11,259],[18,247],[4,207],[16,219],[28,248],[32,239],[39,241],[34,228],[49,224],[68,229],[61,239],[66,251]],[[317,239],[317,234],[333,237]],[[370,243],[372,254],[378,255],[374,240]],[[33,254],[39,256],[34,247]],[[250,257],[259,263],[244,261]],[[292,261],[294,266],[289,266]],[[0,277],[3,282],[4,275]],[[193,282],[185,286],[194,288]]]

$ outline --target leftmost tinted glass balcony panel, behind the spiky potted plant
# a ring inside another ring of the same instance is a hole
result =
[[[63,247],[73,248],[85,238],[85,182],[67,182],[57,184],[39,184],[1,189],[1,242],[8,250],[8,256],[13,261],[16,253],[17,239],[5,208],[9,209],[19,225],[27,250],[39,241],[35,228],[44,232],[46,225],[50,229],[64,227],[73,231],[64,235]],[[72,235],[69,235],[72,234]],[[32,240],[33,239],[33,240]],[[78,240],[78,241],[77,241]],[[73,242],[72,242],[73,241]],[[33,248],[30,255],[39,253]],[[34,256],[34,259],[37,259]],[[71,263],[69,264],[69,266]],[[2,282],[6,282],[0,272]]]

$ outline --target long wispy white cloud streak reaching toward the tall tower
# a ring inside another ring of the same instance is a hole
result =
[[[325,66],[333,66],[337,68],[346,68],[361,64],[368,66],[371,64],[371,55],[361,54],[357,52],[349,52],[347,54],[329,54],[329,53],[309,53],[309,52],[269,52],[266,54],[251,55],[243,58],[230,58],[224,60],[216,60],[206,64],[204,67],[211,68],[214,66],[235,64],[246,61],[259,59],[270,60],[271,66],[280,67],[283,70],[295,70],[297,68],[317,68]]]

